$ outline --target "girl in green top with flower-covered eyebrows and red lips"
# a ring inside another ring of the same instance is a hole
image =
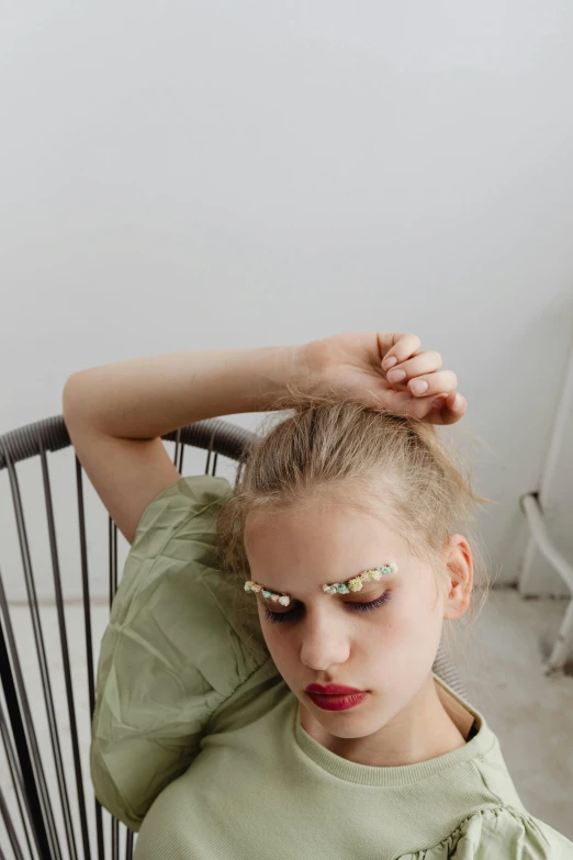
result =
[[[91,774],[138,830],[136,860],[573,858],[432,671],[487,577],[468,540],[479,496],[431,426],[465,403],[419,346],[352,333],[68,381],[71,440],[132,544]],[[285,406],[235,488],[180,478],[159,438]]]

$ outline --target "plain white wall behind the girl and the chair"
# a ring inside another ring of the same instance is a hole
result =
[[[462,442],[497,502],[480,520],[493,572],[515,581],[572,330],[572,40],[565,0],[3,4],[0,433],[58,414],[93,365],[414,331],[469,400],[452,436],[484,443]],[[49,595],[37,465],[21,474]],[[72,478],[59,453],[68,596]],[[16,599],[8,504],[2,472]]]

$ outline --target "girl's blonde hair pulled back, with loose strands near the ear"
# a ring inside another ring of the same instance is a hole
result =
[[[243,581],[250,579],[245,548],[249,513],[327,495],[383,518],[414,557],[429,562],[438,590],[447,573],[441,550],[450,534],[463,534],[473,559],[465,622],[473,623],[491,588],[473,512],[491,500],[473,492],[461,461],[442,444],[437,428],[339,394],[308,394],[293,383],[276,405],[291,414],[244,451],[233,494],[217,517],[224,569]],[[450,625],[446,630],[449,647],[449,634],[454,638],[454,633]]]

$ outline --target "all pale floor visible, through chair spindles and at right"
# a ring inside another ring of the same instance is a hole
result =
[[[564,600],[524,601],[515,590],[492,592],[490,603],[478,619],[468,644],[460,644],[459,647],[463,648],[463,651],[458,652],[457,662],[470,702],[484,714],[499,738],[509,773],[525,806],[533,816],[573,840],[571,801],[573,677],[565,674],[547,677],[543,671],[547,649],[559,629],[565,607]],[[52,686],[64,767],[72,774],[57,615],[52,606],[43,606],[41,612],[47,659],[52,667]],[[101,639],[106,616],[106,606],[94,607],[93,640],[96,643]],[[24,677],[30,679],[27,686],[30,706],[36,725],[38,745],[45,750],[46,775],[48,784],[53,788],[50,796],[58,815],[60,801],[57,797],[55,769],[52,764],[46,711],[37,660],[30,646],[32,641],[30,613],[23,606],[12,606],[11,618],[20,644],[20,654],[23,655]],[[66,625],[71,650],[76,713],[82,749],[83,785],[89,798],[87,760],[89,703],[85,668],[83,615],[80,606],[66,607]],[[21,834],[3,748],[0,749],[0,789],[12,812],[14,827]],[[72,818],[77,825],[78,856],[82,857],[74,778],[70,779],[68,791]],[[88,803],[88,824],[93,833],[94,815],[91,802]],[[108,828],[109,822],[105,820],[105,839],[109,844]],[[58,823],[58,829],[64,841],[61,822]],[[13,856],[10,853],[10,839],[1,822],[0,846],[8,858]],[[124,856],[123,848],[120,856]]]

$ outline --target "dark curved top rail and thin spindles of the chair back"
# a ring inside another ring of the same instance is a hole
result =
[[[183,455],[187,445],[206,450],[205,474],[215,474],[218,455],[233,460],[240,460],[246,446],[255,438],[255,434],[236,424],[222,418],[210,418],[180,427],[177,431],[165,434],[165,442],[175,442],[176,465],[182,474]],[[111,819],[110,852],[105,851],[103,833],[103,814],[99,802],[93,796],[96,808],[96,841],[97,850],[93,852],[88,828],[86,796],[83,791],[83,774],[80,760],[80,746],[78,739],[78,726],[76,718],[76,705],[74,697],[74,684],[69,659],[69,645],[66,628],[65,597],[61,588],[59,571],[57,538],[54,520],[54,504],[48,470],[48,451],[57,451],[71,445],[64,417],[56,415],[33,424],[11,431],[0,436],[0,473],[7,470],[10,480],[12,502],[16,518],[16,529],[22,555],[24,580],[27,593],[27,605],[32,616],[33,633],[36,646],[36,655],[41,671],[41,680],[46,705],[49,726],[52,752],[56,768],[58,793],[61,806],[61,815],[65,826],[65,845],[70,860],[91,860],[92,856],[98,860],[119,860],[120,857],[120,823]],[[55,603],[59,627],[61,646],[61,662],[66,685],[67,711],[71,737],[74,757],[74,770],[76,781],[77,804],[80,822],[80,839],[74,828],[69,801],[68,781],[61,758],[61,744],[56,718],[56,706],[52,692],[50,677],[44,645],[42,621],[38,611],[34,573],[29,550],[29,539],[25,525],[25,516],[22,498],[19,488],[16,463],[40,457],[44,495],[46,504],[46,517],[48,537],[52,552],[52,566],[54,576]],[[213,457],[213,462],[211,459]],[[240,469],[240,465],[239,465]],[[88,571],[87,529],[83,505],[83,469],[76,457],[76,490],[78,504],[78,521],[80,530],[81,555],[81,590],[83,605],[83,623],[86,632],[86,662],[88,674],[88,693],[90,716],[93,715],[96,702],[94,688],[94,659],[91,625],[90,577]],[[109,517],[109,605],[117,589],[117,526]],[[462,699],[467,699],[463,684],[451,660],[442,646],[436,657],[434,671]],[[65,846],[59,841],[56,830],[52,800],[46,783],[43,757],[38,748],[37,736],[32,719],[30,702],[26,693],[26,684],[22,663],[18,654],[13,625],[10,618],[9,602],[2,582],[0,568],[0,679],[2,682],[5,713],[0,699],[0,735],[7,756],[10,777],[15,792],[18,811],[24,833],[25,848],[18,837],[16,828],[10,814],[10,809],[0,784],[0,816],[8,831],[10,845],[15,860],[24,860],[25,853],[32,860],[38,857],[41,860],[63,860]],[[123,825],[121,825],[123,827]],[[125,828],[125,858],[132,860],[134,834]],[[4,860],[2,847],[0,847],[0,860]]]

